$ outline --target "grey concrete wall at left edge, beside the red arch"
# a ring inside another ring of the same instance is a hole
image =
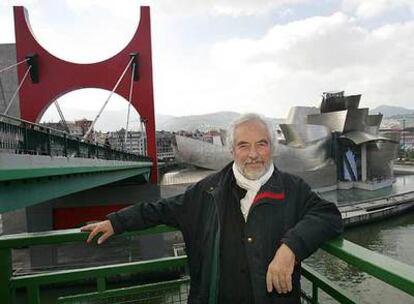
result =
[[[16,63],[15,44],[0,44],[0,70]],[[0,73],[0,113],[3,113],[18,87],[17,69],[12,68]],[[20,118],[19,96],[13,101],[8,115]]]

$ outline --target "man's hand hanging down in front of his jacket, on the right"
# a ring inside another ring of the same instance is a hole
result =
[[[272,292],[273,288],[275,288],[278,293],[291,292],[294,267],[295,254],[287,245],[282,244],[267,268],[267,291]]]

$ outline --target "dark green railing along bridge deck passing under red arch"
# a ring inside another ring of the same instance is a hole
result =
[[[0,114],[0,150],[16,154],[98,158],[122,161],[149,161],[146,156],[93,144],[29,121]]]

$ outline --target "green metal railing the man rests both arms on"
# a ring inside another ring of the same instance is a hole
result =
[[[145,235],[174,231],[167,226],[158,226],[152,229],[128,233],[131,235]],[[125,234],[124,234],[125,235]],[[104,302],[108,298],[139,295],[142,292],[161,294],[163,288],[175,288],[178,285],[188,286],[188,279],[160,282],[157,284],[140,285],[130,288],[108,289],[107,279],[120,274],[163,272],[172,268],[182,268],[186,264],[186,257],[168,257],[149,261],[140,261],[109,266],[99,266],[82,269],[50,271],[39,274],[15,276],[12,272],[12,249],[34,245],[61,244],[74,241],[85,241],[87,233],[78,229],[50,231],[41,233],[23,233],[17,235],[5,235],[0,237],[0,299],[2,303],[13,303],[15,291],[24,288],[27,293],[28,303],[40,303],[40,288],[56,283],[82,282],[94,280],[96,291],[83,295],[63,297],[58,303],[117,303]],[[379,280],[414,296],[414,267],[395,261],[384,255],[365,249],[359,245],[343,239],[327,242],[321,246],[327,253],[357,267],[358,269],[378,278]],[[305,303],[319,303],[318,293],[323,290],[340,303],[356,303],[349,293],[343,291],[324,276],[318,274],[306,265],[302,266],[302,275],[312,283],[312,293],[303,293]],[[185,303],[185,296],[179,290],[179,301],[168,303]],[[158,291],[158,292],[157,292]],[[177,299],[177,296],[173,297]],[[101,301],[102,300],[102,301]],[[120,302],[118,302],[120,303]],[[134,303],[150,303],[135,301]]]

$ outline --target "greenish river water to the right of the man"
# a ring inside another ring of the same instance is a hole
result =
[[[382,190],[387,192],[406,192],[414,190],[414,176],[401,176],[393,188]],[[337,192],[328,194],[339,203],[357,199],[366,199],[366,191]],[[414,266],[414,211],[407,212],[388,220],[348,228],[344,238],[372,251],[389,256],[395,260]],[[332,258],[319,250],[306,263],[317,271],[335,281],[337,285],[348,291],[358,303],[413,303],[414,297],[373,278],[356,268]],[[304,282],[304,286],[306,283]],[[322,303],[337,303],[328,296],[322,297]]]

